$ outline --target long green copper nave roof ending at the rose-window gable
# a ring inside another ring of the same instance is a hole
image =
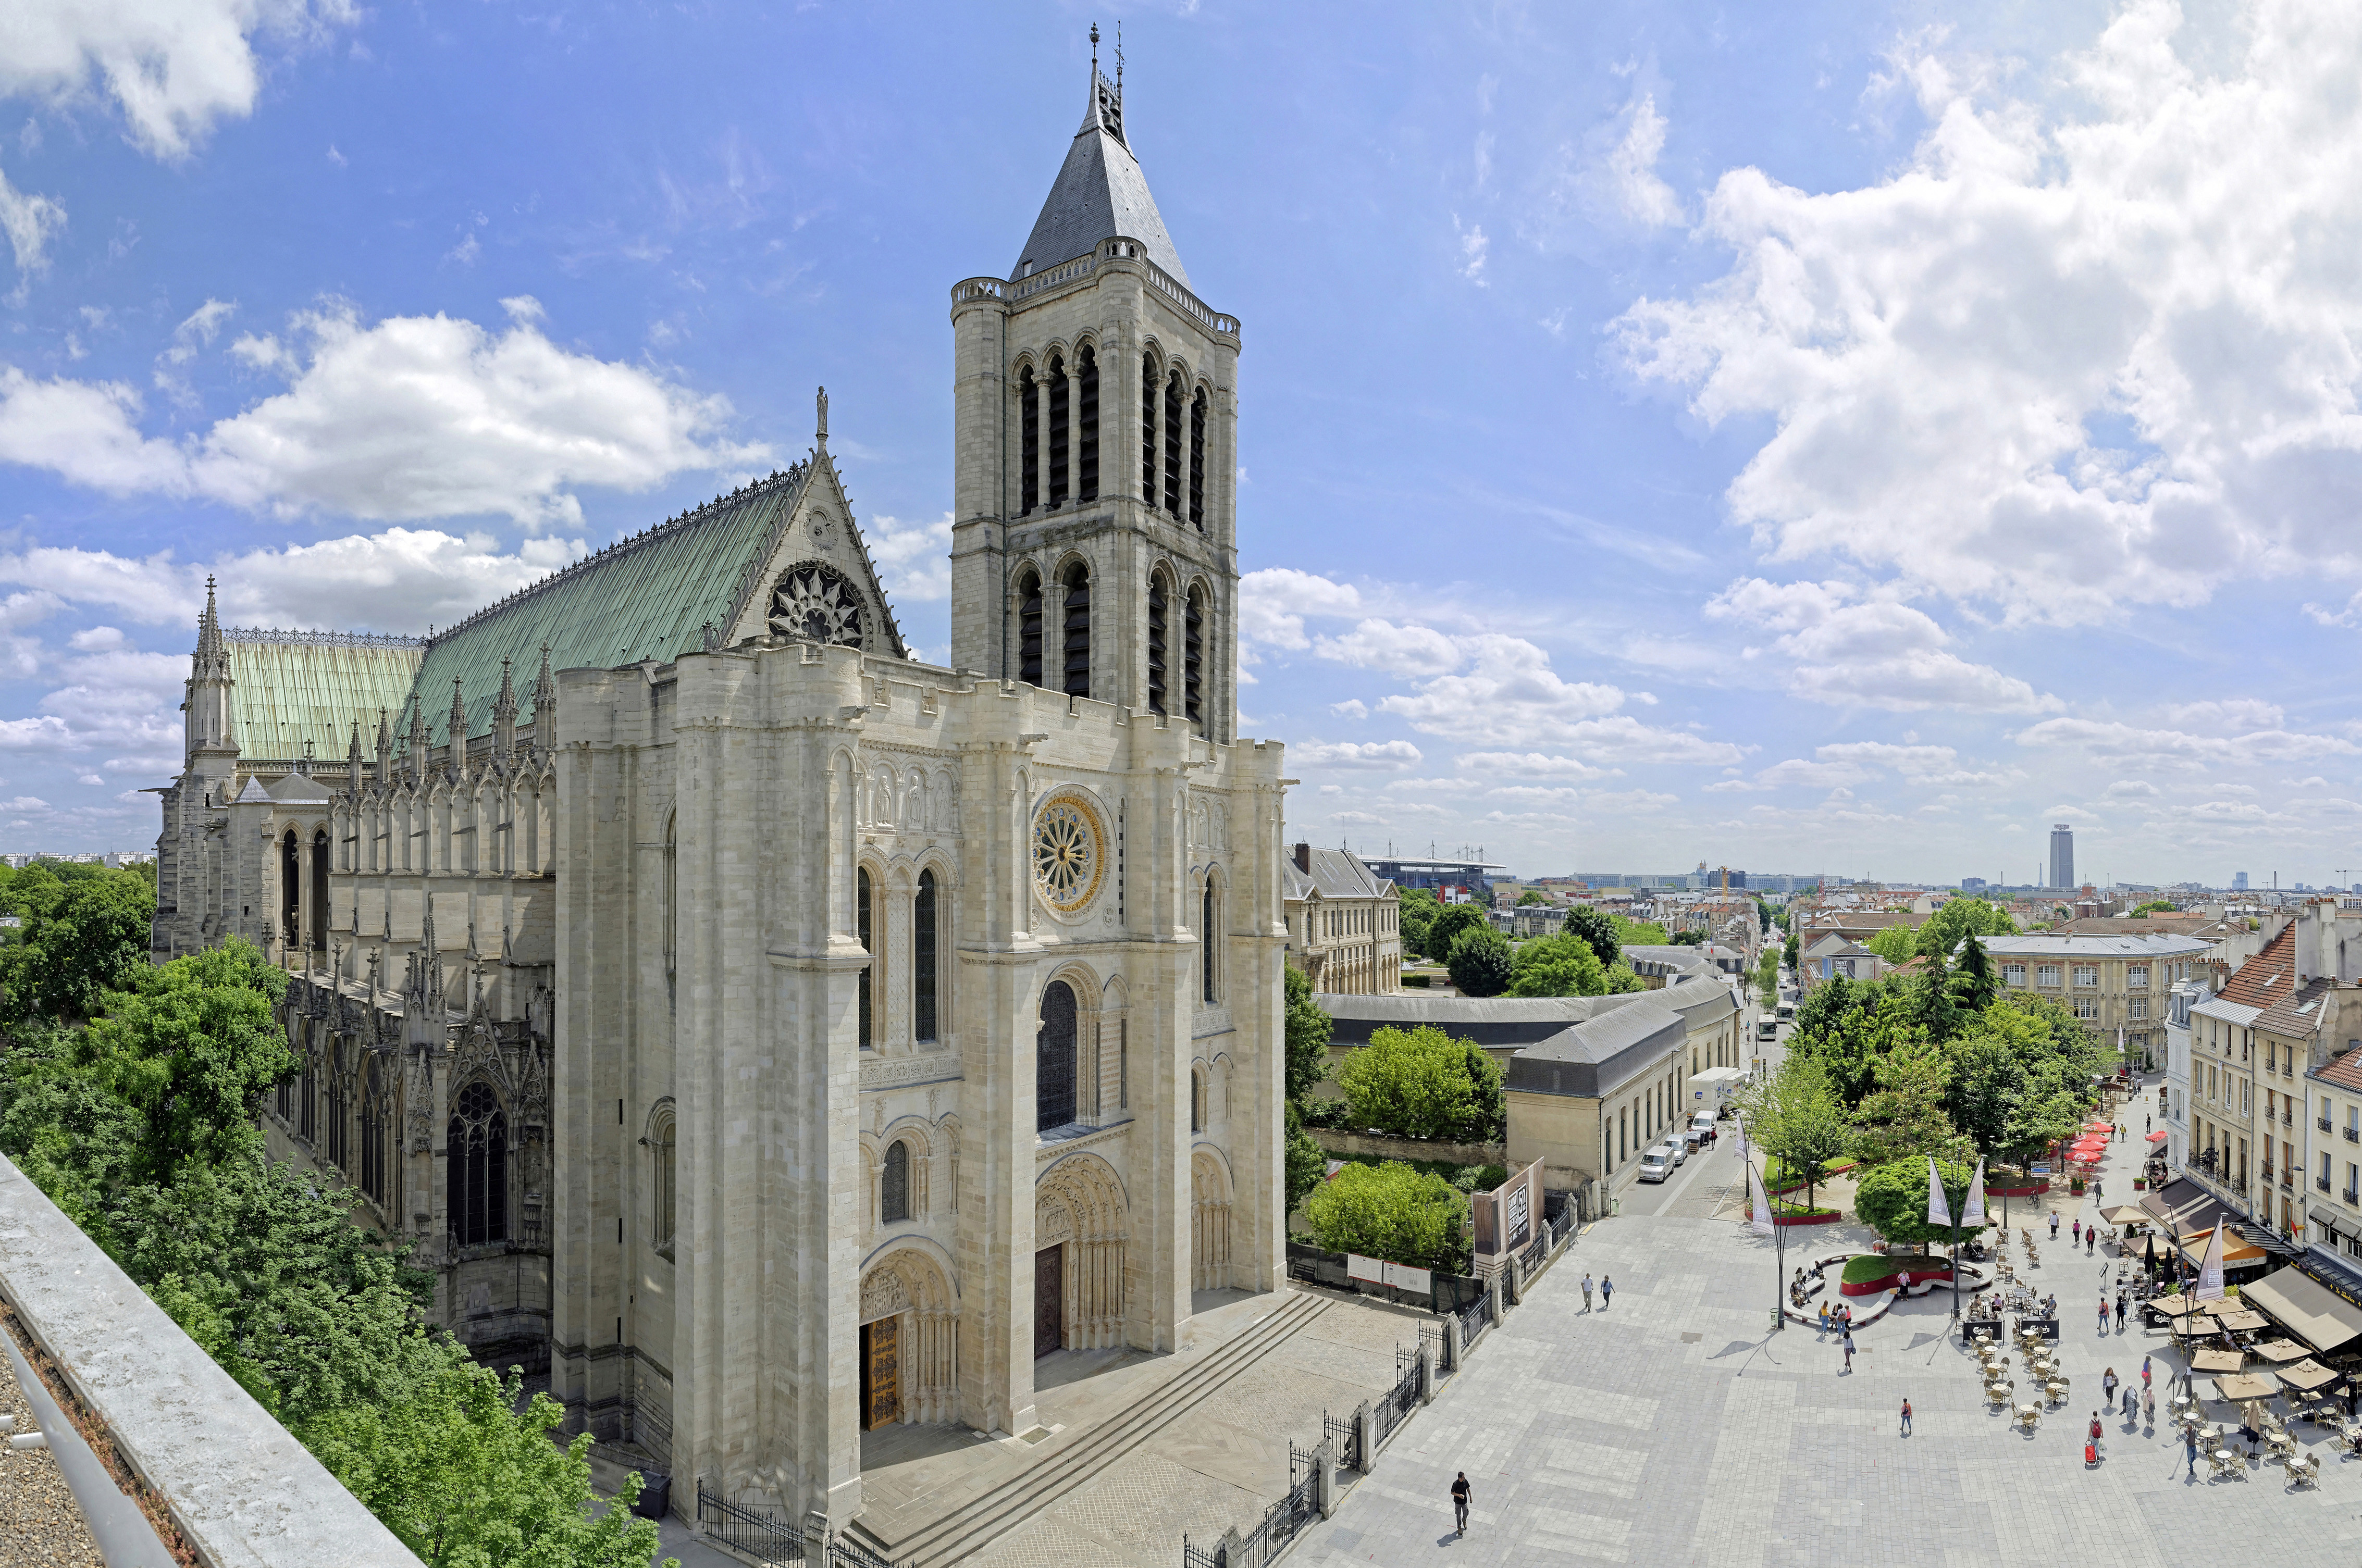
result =
[[[491,730],[503,659],[515,666],[517,723],[524,723],[543,647],[553,671],[614,668],[640,659],[671,661],[702,647],[706,621],[725,635],[746,576],[770,555],[810,472],[808,463],[798,463],[756,479],[428,638],[418,680],[406,690],[425,708],[435,741],[449,741],[454,680],[468,704],[468,734]],[[399,734],[402,725],[394,730]]]

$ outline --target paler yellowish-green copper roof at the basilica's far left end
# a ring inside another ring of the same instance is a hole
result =
[[[229,734],[241,756],[295,760],[305,744],[321,760],[340,760],[361,725],[366,746],[378,739],[378,711],[399,713],[418,675],[425,642],[359,633],[234,628],[229,647]]]

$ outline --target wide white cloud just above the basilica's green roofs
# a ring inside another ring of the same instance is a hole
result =
[[[298,312],[286,338],[243,335],[243,364],[286,380],[184,442],[142,435],[123,383],[0,371],[0,460],[106,494],[222,501],[371,522],[501,515],[581,522],[576,486],[647,489],[683,470],[744,468],[761,444],[720,437],[723,397],[550,342],[541,307],[505,300],[503,333],[451,316],[364,324],[345,302]],[[161,364],[187,364],[229,307],[208,300]]]

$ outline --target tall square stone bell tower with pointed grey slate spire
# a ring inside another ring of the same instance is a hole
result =
[[[1238,319],[1190,290],[1096,26],[1049,201],[952,333],[952,664],[1231,741]]]

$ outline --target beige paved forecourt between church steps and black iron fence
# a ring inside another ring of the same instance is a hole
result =
[[[1181,1535],[1252,1528],[1287,1492],[1287,1443],[1313,1448],[1323,1410],[1351,1415],[1394,1386],[1394,1348],[1429,1318],[1335,1296],[1306,1329],[1214,1391],[973,1563],[1176,1568]]]

